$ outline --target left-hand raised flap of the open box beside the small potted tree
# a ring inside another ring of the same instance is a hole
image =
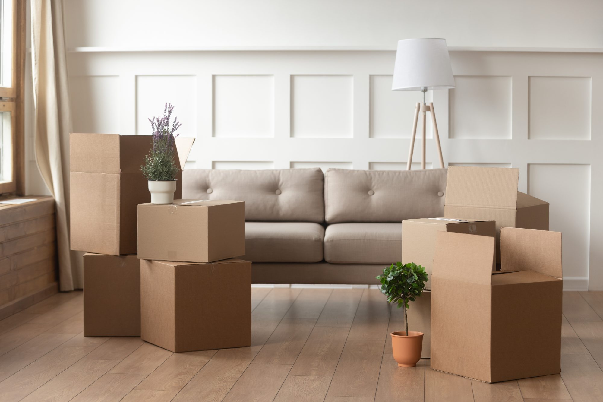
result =
[[[494,270],[494,237],[437,232],[432,275],[490,284]]]

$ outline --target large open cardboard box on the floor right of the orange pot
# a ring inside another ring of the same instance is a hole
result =
[[[561,371],[561,233],[503,228],[494,238],[438,232],[431,368],[494,383]]]

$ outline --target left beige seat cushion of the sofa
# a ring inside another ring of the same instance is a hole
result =
[[[316,263],[323,260],[324,228],[312,222],[245,222],[244,260]]]

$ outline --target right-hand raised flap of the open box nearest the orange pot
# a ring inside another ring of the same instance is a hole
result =
[[[503,269],[533,270],[562,278],[561,232],[502,228],[500,262]]]

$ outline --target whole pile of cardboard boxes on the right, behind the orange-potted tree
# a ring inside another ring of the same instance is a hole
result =
[[[444,217],[403,222],[402,261],[429,274],[409,324],[432,369],[486,382],[560,372],[561,234],[518,182],[519,169],[450,167]]]

